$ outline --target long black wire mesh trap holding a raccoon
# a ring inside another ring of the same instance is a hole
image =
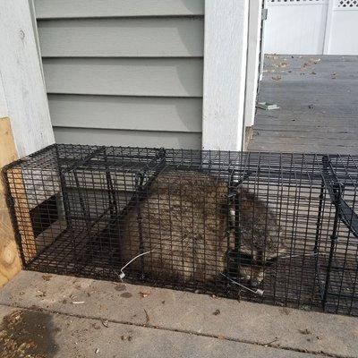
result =
[[[26,269],[358,315],[358,157],[55,144],[4,177]]]

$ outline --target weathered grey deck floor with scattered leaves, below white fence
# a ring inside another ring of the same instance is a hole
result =
[[[266,55],[249,150],[358,154],[358,56]]]

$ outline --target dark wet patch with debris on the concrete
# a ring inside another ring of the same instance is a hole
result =
[[[0,326],[2,358],[51,358],[58,351],[55,333],[58,331],[49,313],[13,311],[4,316]]]

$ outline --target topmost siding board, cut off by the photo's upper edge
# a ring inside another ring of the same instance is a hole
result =
[[[35,0],[39,19],[202,15],[204,0]]]

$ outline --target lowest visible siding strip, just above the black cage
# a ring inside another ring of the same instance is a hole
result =
[[[115,131],[55,127],[57,143],[200,149],[200,133]]]

